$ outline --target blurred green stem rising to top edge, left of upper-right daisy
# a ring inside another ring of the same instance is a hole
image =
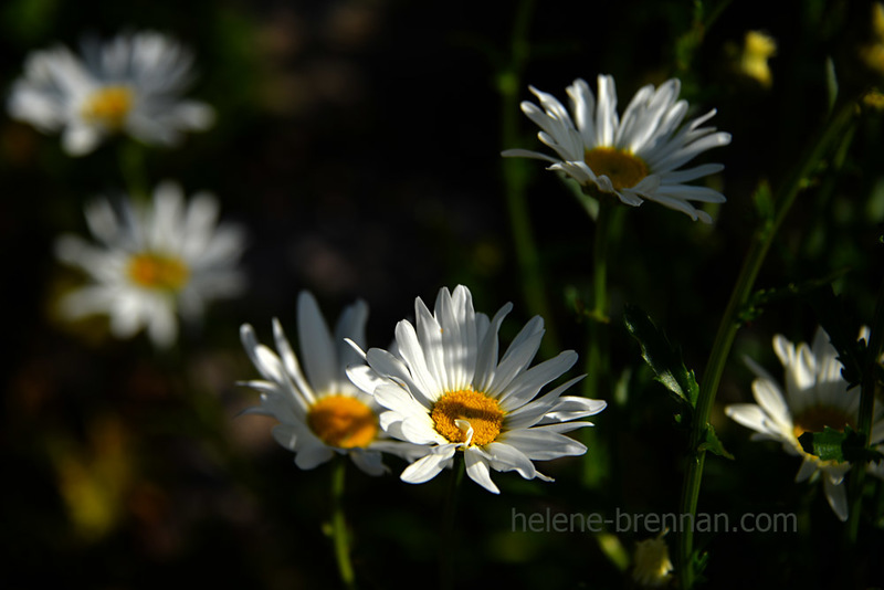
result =
[[[516,11],[512,35],[512,60],[498,77],[501,93],[501,139],[504,148],[518,143],[520,110],[518,94],[522,89],[522,73],[527,62],[529,44],[528,28],[534,13],[534,0],[523,0]],[[515,158],[502,158],[504,192],[509,212],[509,226],[516,251],[516,262],[522,277],[523,296],[532,313],[546,320],[546,337],[541,344],[548,356],[559,349],[558,335],[552,323],[546,295],[546,281],[540,268],[540,256],[532,230],[530,212],[526,192],[524,164]]]

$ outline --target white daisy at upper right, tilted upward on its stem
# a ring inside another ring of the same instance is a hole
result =
[[[552,162],[550,170],[561,170],[591,192],[615,194],[633,207],[654,201],[694,221],[712,222],[708,213],[690,201],[722,203],[724,196],[685,182],[719,172],[724,166],[678,168],[707,149],[729,144],[730,135],[701,127],[715,110],[682,125],[687,102],[676,99],[681,88],[677,80],[656,89],[650,84],[642,87],[622,119],[617,114],[611,76],[599,76],[598,102],[585,81],[576,80],[568,86],[573,119],[555,96],[529,88],[543,108],[526,101],[522,110],[540,127],[537,137],[558,157],[526,149],[507,149],[503,156],[547,160]]]

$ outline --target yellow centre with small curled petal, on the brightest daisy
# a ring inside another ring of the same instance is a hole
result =
[[[465,420],[473,428],[470,445],[485,445],[494,442],[501,434],[504,412],[494,400],[472,389],[450,391],[439,398],[430,413],[435,431],[453,443],[466,442],[466,429],[455,421]]]

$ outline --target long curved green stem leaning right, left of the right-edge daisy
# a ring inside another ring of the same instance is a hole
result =
[[[846,129],[853,124],[855,110],[856,105],[852,99],[844,101],[832,109],[821,133],[817,135],[814,141],[809,144],[809,149],[804,152],[799,166],[786,179],[780,191],[775,196],[770,213],[762,215],[758,229],[753,234],[749,251],[744,260],[734,291],[730,293],[730,299],[722,316],[722,322],[718,325],[718,331],[715,335],[703,380],[699,384],[699,397],[691,424],[687,470],[682,487],[681,514],[690,514],[692,517],[696,517],[703,467],[706,460],[706,451],[701,449],[701,445],[709,432],[709,414],[715,403],[718,383],[722,379],[730,347],[741,324],[740,316],[750,301],[761,265],[777,231],[786,219],[786,214],[789,212],[796,197],[804,186],[806,180],[812,176],[827,150],[839,138],[844,137]],[[693,588],[695,575],[697,573],[695,568],[698,563],[698,556],[694,555],[694,534],[690,527],[680,535],[677,555],[680,586],[683,590]]]

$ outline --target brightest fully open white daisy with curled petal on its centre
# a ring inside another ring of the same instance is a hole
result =
[[[599,413],[606,402],[561,397],[581,377],[534,399],[577,361],[569,350],[528,369],[544,336],[540,317],[528,322],[498,360],[497,330],[512,304],[488,319],[475,313],[470,291],[461,285],[453,294],[442,288],[432,314],[420,297],[414,307],[417,326],[401,320],[396,327],[396,352],[372,348],[366,354],[379,380],[367,382],[365,371],[350,371],[350,379],[385,408],[381,428],[421,445],[422,456],[402,472],[403,481],[432,480],[462,452],[467,475],[497,494],[491,470],[551,481],[534,461],[586,452],[564,433],[591,425],[572,420]]]

